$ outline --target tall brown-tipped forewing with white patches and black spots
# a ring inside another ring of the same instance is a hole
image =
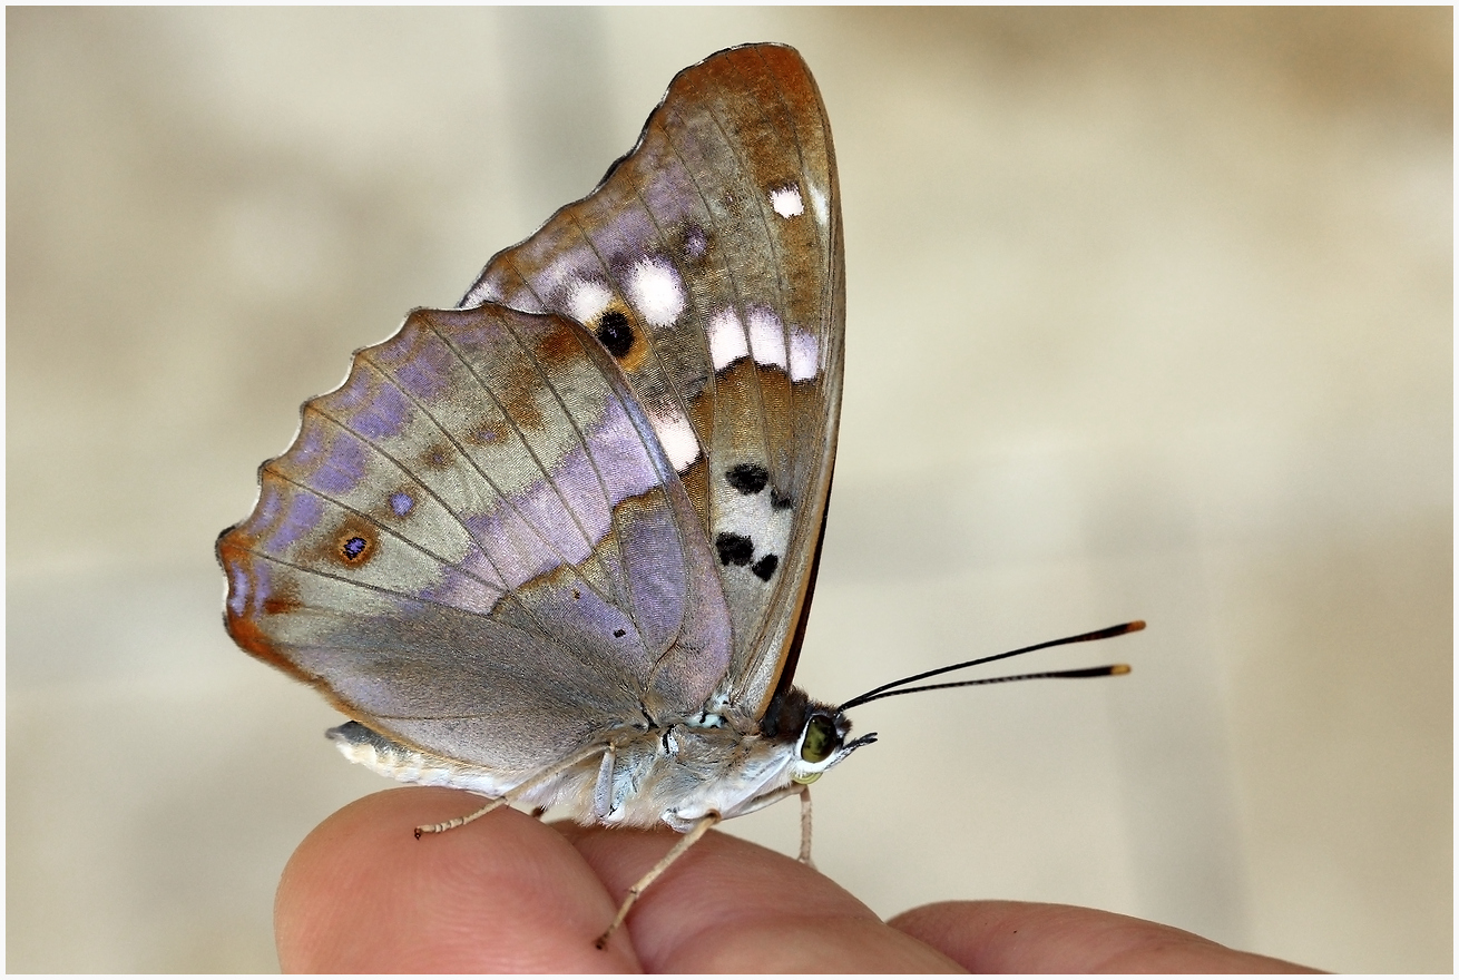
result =
[[[837,201],[804,61],[734,48],[681,71],[603,184],[463,300],[572,316],[623,369],[713,553],[734,626],[727,694],[751,716],[789,655],[835,458]]]

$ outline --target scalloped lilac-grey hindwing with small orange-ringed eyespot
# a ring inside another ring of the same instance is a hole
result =
[[[525,776],[728,668],[699,515],[575,322],[411,314],[260,483],[219,540],[229,631],[407,745]]]

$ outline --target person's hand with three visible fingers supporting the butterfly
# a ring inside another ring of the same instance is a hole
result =
[[[468,812],[446,789],[375,793],[325,820],[285,868],[279,962],[330,973],[1300,973],[1139,919],[948,901],[883,922],[792,858],[711,833],[639,898],[619,898],[677,834]]]

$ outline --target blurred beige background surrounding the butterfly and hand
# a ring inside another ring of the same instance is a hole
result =
[[[883,914],[1068,901],[1452,960],[1452,13],[45,10],[7,25],[7,961],[270,970],[385,783],[219,624],[213,538],[350,350],[451,305],[678,69],[797,45],[846,222],[801,681],[1131,617],[891,700],[817,785]],[[730,824],[794,853],[794,806]]]

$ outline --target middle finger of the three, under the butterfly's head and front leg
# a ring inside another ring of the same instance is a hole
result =
[[[670,831],[562,830],[614,897],[677,840]],[[718,831],[643,892],[626,928],[651,973],[959,973],[824,875]]]

